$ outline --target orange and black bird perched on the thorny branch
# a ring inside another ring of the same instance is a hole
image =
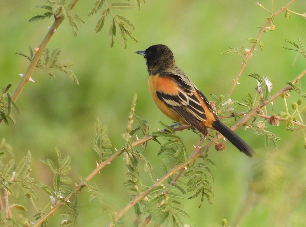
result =
[[[162,113],[181,124],[193,126],[203,135],[207,135],[206,128],[215,129],[252,157],[252,148],[219,120],[207,98],[177,67],[167,46],[153,45],[135,53],[147,60],[150,92]]]

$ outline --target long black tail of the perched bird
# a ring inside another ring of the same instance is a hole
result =
[[[243,152],[247,156],[253,156],[253,149],[221,121],[213,121],[211,125],[216,130],[218,130],[226,139],[230,140],[230,142],[235,147],[237,147],[239,151]]]

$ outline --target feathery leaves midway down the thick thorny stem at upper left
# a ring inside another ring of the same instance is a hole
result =
[[[34,53],[32,48],[30,49],[30,56],[23,54],[23,53],[16,53],[18,55],[24,56],[29,61],[32,60]],[[70,79],[74,81],[74,83],[79,84],[76,75],[74,74],[71,67],[73,67],[73,63],[71,61],[67,61],[65,64],[61,64],[58,62],[58,57],[62,53],[62,49],[55,48],[51,53],[48,48],[43,50],[42,58],[38,60],[36,67],[42,69],[43,71],[47,72],[50,75],[50,78],[56,78],[53,69],[64,72],[66,75],[69,76]]]

